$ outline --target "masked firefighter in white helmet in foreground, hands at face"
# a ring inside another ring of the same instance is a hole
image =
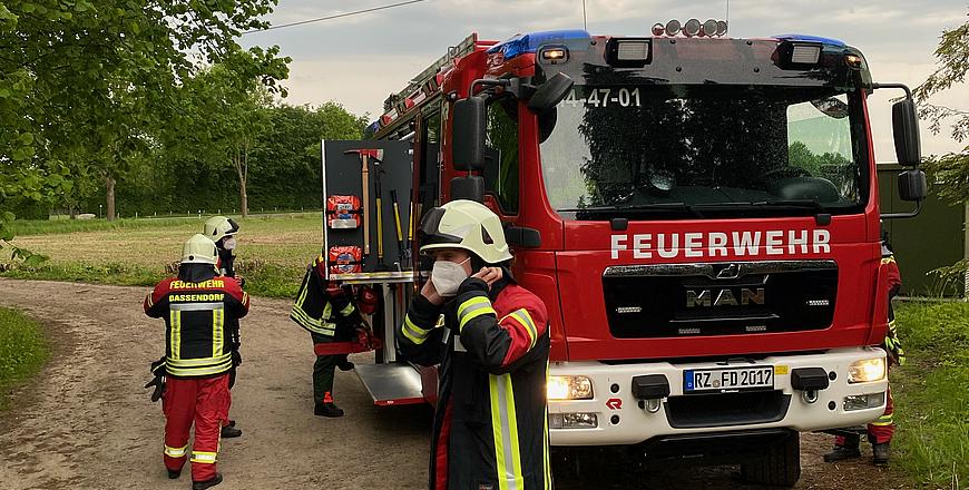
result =
[[[549,489],[548,314],[519,286],[498,216],[453,200],[421,224],[434,265],[395,337],[440,364],[429,488]]]

